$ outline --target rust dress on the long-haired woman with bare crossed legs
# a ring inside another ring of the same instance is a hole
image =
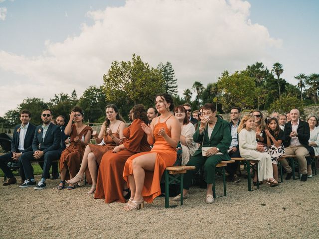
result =
[[[121,124],[122,123],[119,124],[118,129],[116,130],[116,132],[112,133],[117,138],[120,138],[119,127],[120,127]],[[115,148],[115,146],[116,146],[116,143],[113,141],[111,136],[108,135],[108,134],[104,135],[103,141],[105,143],[104,145],[91,144],[91,143],[88,144],[90,149],[91,149],[91,151],[92,151],[92,153],[95,156],[96,163],[98,165],[100,165],[100,163],[101,163],[103,154],[105,154],[109,150],[113,150],[113,148]],[[89,167],[86,167],[86,169],[85,169],[85,178],[86,178],[86,181],[87,181],[88,184],[92,184],[92,178],[91,178],[91,174],[90,174],[90,171],[89,171]]]

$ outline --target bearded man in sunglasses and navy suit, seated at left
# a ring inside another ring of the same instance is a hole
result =
[[[52,160],[60,158],[61,155],[61,130],[58,126],[51,123],[52,111],[44,109],[41,119],[43,125],[38,125],[35,129],[32,142],[32,150],[22,154],[19,159],[20,167],[23,168],[26,180],[20,188],[34,186],[35,180],[33,175],[33,167],[31,161],[44,160],[43,173],[41,180],[34,187],[35,190],[42,190],[46,187],[45,178],[48,175]]]

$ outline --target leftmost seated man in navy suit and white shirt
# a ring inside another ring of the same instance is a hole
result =
[[[2,185],[7,186],[16,183],[16,178],[7,166],[8,162],[17,162],[21,155],[32,150],[32,140],[35,131],[35,125],[29,123],[31,112],[22,110],[20,112],[21,124],[14,127],[13,138],[11,141],[11,152],[0,156],[0,168],[8,178]],[[21,179],[24,180],[23,170],[20,171]]]

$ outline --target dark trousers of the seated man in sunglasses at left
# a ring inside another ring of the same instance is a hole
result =
[[[43,160],[43,172],[41,178],[46,178],[46,176],[49,174],[50,167],[52,164],[52,160],[59,159],[61,155],[61,150],[51,150],[46,152],[43,157],[40,159],[35,159],[33,157],[33,152],[25,152],[21,155],[19,158],[19,164],[20,168],[23,168],[25,177],[27,179],[34,178],[33,175],[33,167],[31,165],[31,161],[41,161]]]

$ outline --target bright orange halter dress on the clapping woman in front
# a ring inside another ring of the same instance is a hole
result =
[[[167,119],[169,119],[168,117]],[[154,127],[154,137],[155,137],[155,143],[153,148],[150,152],[142,152],[137,153],[133,156],[131,156],[125,163],[124,172],[123,172],[123,178],[125,181],[128,182],[127,177],[130,175],[133,175],[133,160],[144,154],[148,153],[157,153],[156,161],[155,161],[155,167],[154,171],[145,171],[145,180],[144,180],[144,187],[142,190],[142,196],[144,197],[144,201],[148,203],[152,203],[153,200],[160,196],[160,178],[164,173],[164,170],[166,167],[172,166],[177,157],[176,149],[171,147],[166,140],[158,134],[161,127],[164,127],[166,134],[171,137],[171,133],[167,128],[166,121],[165,122],[159,122]],[[130,185],[128,185],[130,187]]]

